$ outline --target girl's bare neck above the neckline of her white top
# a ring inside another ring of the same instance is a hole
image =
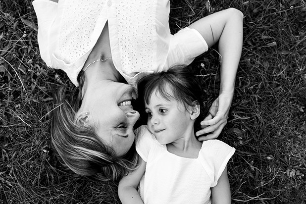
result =
[[[189,135],[186,135],[170,144],[167,144],[167,151],[177,156],[186,158],[198,158],[199,151],[202,147],[202,142],[199,142],[194,134],[194,131],[190,131]]]

